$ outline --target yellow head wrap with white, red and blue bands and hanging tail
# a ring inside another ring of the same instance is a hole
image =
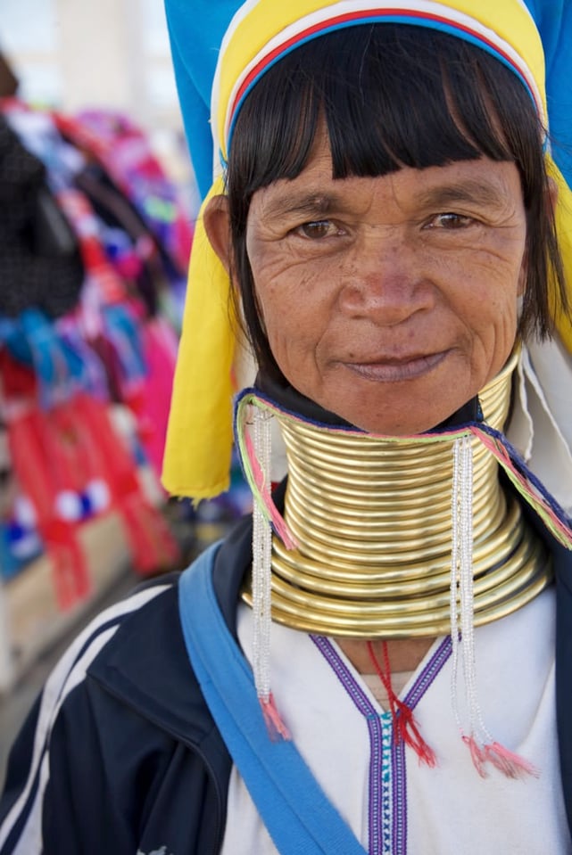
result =
[[[564,0],[565,4],[567,2]],[[534,0],[528,3],[535,12]],[[542,7],[542,16],[545,3],[540,0],[536,5]],[[223,6],[228,14],[228,2]],[[204,8],[208,9],[208,4]],[[564,11],[560,8],[559,21],[552,15],[553,43],[558,36],[558,33],[554,35],[554,29],[558,29],[559,23],[565,28],[568,21],[568,28],[572,27],[572,9],[568,12],[568,8]],[[189,84],[192,73],[185,62],[185,53],[193,51],[193,33],[201,23],[201,16],[190,0],[167,0],[167,13],[179,96],[183,110],[187,109],[188,113],[193,108],[190,95],[193,87]],[[498,56],[523,80],[539,115],[548,124],[543,43],[523,0],[440,0],[439,3],[433,0],[394,0],[390,3],[379,0],[340,0],[337,3],[331,0],[289,0],[287,3],[248,0],[243,4],[222,39],[212,86],[215,180],[203,202],[195,230],[163,466],[163,483],[174,495],[208,498],[228,488],[232,396],[236,391],[231,380],[235,337],[228,306],[228,275],[211,249],[202,216],[211,196],[224,193],[220,160],[227,159],[232,123],[242,99],[269,64],[293,45],[340,26],[400,19],[451,32]],[[569,71],[572,73],[572,65]],[[187,122],[187,134],[188,127]],[[560,247],[565,267],[572,272],[572,194],[549,154],[547,158],[551,175],[559,185]],[[556,317],[556,324],[562,341],[572,352],[570,318],[560,315]]]

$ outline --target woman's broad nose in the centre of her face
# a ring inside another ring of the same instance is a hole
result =
[[[378,325],[402,324],[434,304],[435,286],[425,267],[419,247],[383,228],[371,228],[345,266],[342,310]]]

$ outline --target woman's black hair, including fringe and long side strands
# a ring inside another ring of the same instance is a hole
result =
[[[253,193],[297,177],[321,123],[333,177],[375,177],[485,156],[514,162],[526,209],[527,281],[518,332],[551,334],[548,281],[567,308],[543,156],[544,128],[513,70],[476,45],[412,25],[342,29],[286,54],[236,119],[227,189],[232,275],[263,373],[281,378],[261,325],[245,232]]]

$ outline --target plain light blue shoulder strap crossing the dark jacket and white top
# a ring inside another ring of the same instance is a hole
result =
[[[183,573],[179,614],[188,657],[228,751],[282,855],[365,855],[294,742],[269,739],[252,670],[228,631],[212,587],[218,547],[210,547]]]

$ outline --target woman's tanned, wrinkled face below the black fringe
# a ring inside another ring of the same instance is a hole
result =
[[[363,430],[394,435],[434,427],[502,368],[525,241],[514,164],[334,180],[325,139],[300,176],[254,194],[246,231],[288,382]]]

